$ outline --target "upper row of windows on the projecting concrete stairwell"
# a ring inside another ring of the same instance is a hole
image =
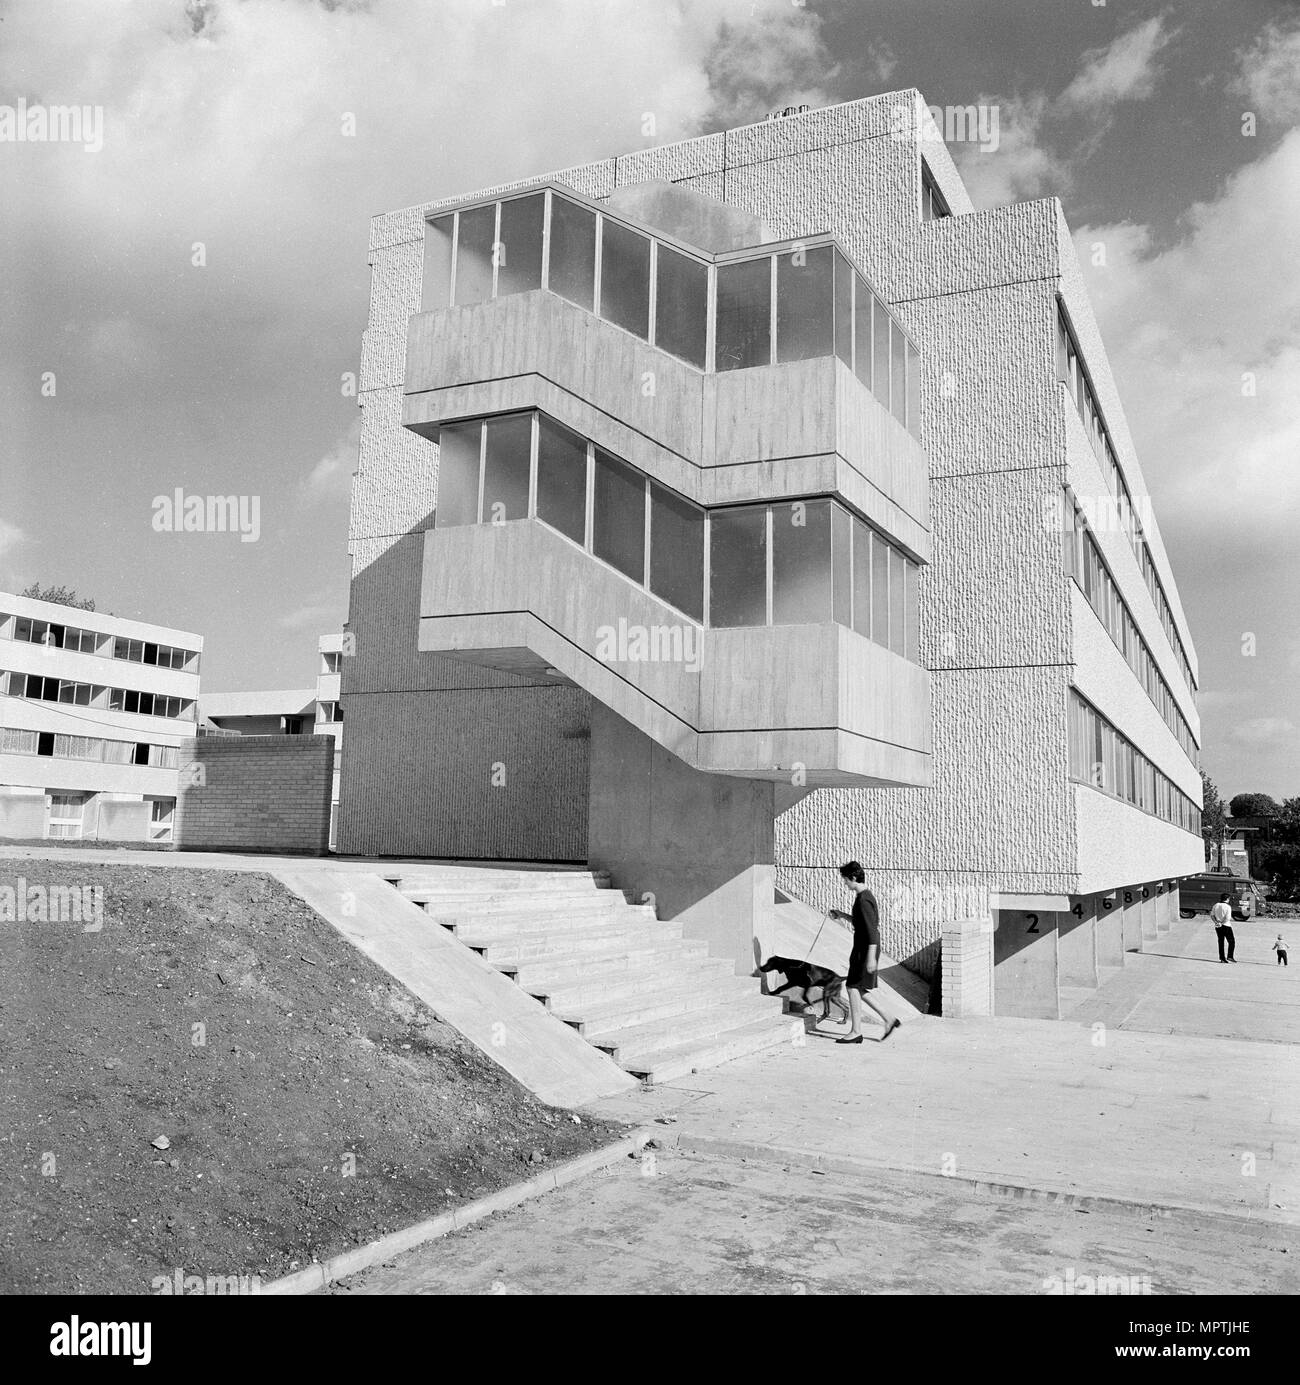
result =
[[[839,356],[919,436],[917,348],[828,237],[714,263],[551,191],[429,220],[425,310],[534,288],[699,370]]]

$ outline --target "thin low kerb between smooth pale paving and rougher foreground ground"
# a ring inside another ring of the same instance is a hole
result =
[[[947,1186],[961,1186],[976,1192],[987,1192],[994,1197],[1013,1198],[1020,1202],[1044,1202],[1052,1206],[1077,1208],[1084,1212],[1120,1212],[1128,1216],[1171,1217],[1192,1215],[1199,1217],[1222,1217],[1229,1222],[1250,1222],[1254,1226],[1296,1226],[1300,1224],[1300,1213],[1270,1209],[1268,1213],[1258,1210],[1229,1212],[1224,1208],[1203,1208],[1186,1202],[1144,1202],[1139,1198],[1119,1198],[1113,1194],[1074,1192],[1069,1188],[1054,1188],[1049,1186],[1036,1186],[1027,1183],[1011,1183],[1005,1179],[982,1179],[959,1173],[930,1173],[925,1169],[910,1168],[904,1163],[889,1163],[883,1159],[864,1159],[853,1155],[824,1155],[806,1150],[778,1144],[759,1144],[749,1140],[727,1140],[721,1136],[696,1136],[685,1132],[671,1132],[665,1136],[653,1136],[663,1144],[671,1143],[683,1154],[702,1154],[720,1158],[753,1159],[759,1163],[795,1165],[804,1169],[817,1169],[825,1173],[845,1173],[853,1177],[867,1177],[872,1173],[905,1173],[923,1183],[941,1183]]]

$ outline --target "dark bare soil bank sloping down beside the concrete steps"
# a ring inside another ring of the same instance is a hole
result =
[[[101,886],[104,925],[0,922],[0,1292],[269,1281],[623,1133],[537,1101],[269,875],[19,877]]]

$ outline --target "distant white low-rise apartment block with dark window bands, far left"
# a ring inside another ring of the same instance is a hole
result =
[[[0,837],[170,842],[202,648],[0,593]]]

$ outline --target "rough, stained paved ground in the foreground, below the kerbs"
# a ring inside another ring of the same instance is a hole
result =
[[[1084,1277],[1105,1277],[1108,1292],[1296,1294],[1296,1259],[1290,1228],[1263,1222],[1080,1215],[941,1179],[867,1180],[666,1151],[331,1292],[1036,1295],[1065,1284],[1084,1292]]]

